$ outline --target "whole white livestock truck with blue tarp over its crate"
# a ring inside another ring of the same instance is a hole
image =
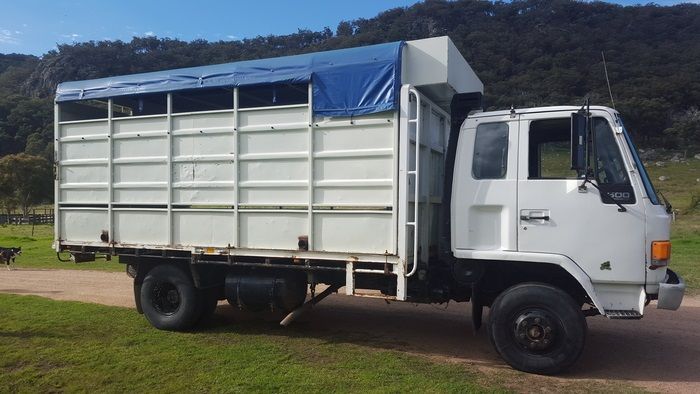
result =
[[[620,114],[482,92],[447,37],[62,83],[55,250],[119,256],[165,330],[222,299],[283,324],[339,290],[470,301],[543,374],[586,316],[677,309],[670,210]]]

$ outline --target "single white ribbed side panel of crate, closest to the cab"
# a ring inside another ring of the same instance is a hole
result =
[[[314,120],[315,250],[396,253],[394,115]]]

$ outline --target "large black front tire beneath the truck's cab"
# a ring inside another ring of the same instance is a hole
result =
[[[573,298],[543,283],[523,283],[493,302],[491,343],[520,371],[551,375],[570,367],[583,351],[586,319]]]

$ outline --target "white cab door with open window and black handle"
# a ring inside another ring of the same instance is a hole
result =
[[[596,292],[616,300],[606,302],[606,308],[637,309],[629,305],[639,305],[644,295],[640,296],[645,271],[644,207],[630,181],[630,163],[620,152],[622,136],[614,132],[607,112],[593,111],[591,158],[595,160],[591,160],[595,165],[591,167],[595,174],[591,179],[603,190],[603,197],[590,184],[580,190],[583,178],[570,169],[570,116],[571,112],[561,111],[520,117],[518,251],[567,256],[597,284]],[[612,198],[626,212],[619,212]],[[627,296],[613,296],[618,291]]]

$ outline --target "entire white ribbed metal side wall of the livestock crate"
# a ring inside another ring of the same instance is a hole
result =
[[[309,87],[310,89],[310,87]],[[58,122],[65,243],[395,255],[396,112],[312,103]]]

